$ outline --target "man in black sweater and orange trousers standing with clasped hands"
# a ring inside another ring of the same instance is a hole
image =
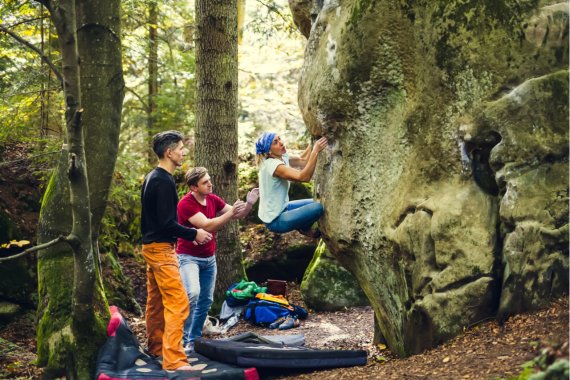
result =
[[[178,224],[178,193],[172,173],[182,165],[185,148],[177,131],[158,133],[152,149],[158,166],[145,178],[142,192],[142,254],[147,264],[146,332],[148,349],[162,356],[165,370],[193,370],[182,347],[188,297],[178,271],[177,238],[205,244],[212,235],[203,229]]]

